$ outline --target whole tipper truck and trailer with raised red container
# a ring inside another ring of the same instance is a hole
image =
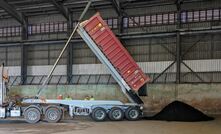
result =
[[[137,120],[142,116],[143,101],[136,91],[146,84],[149,77],[142,72],[99,14],[78,25],[77,31],[99,60],[107,66],[131,103],[122,103],[118,100],[29,98],[23,99],[21,105],[10,101],[0,106],[0,118],[24,117],[29,123],[37,123],[44,117],[46,121],[55,123],[62,118],[66,110],[70,117],[90,115],[95,121],[104,121],[107,116],[114,121],[122,120],[124,117],[128,120]],[[1,88],[3,89],[5,88]],[[0,94],[1,97],[5,95]]]

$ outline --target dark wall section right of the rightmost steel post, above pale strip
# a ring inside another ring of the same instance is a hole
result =
[[[220,59],[221,58],[221,36],[219,34],[206,34],[200,36],[182,37],[182,52],[185,53],[184,60],[197,59]]]

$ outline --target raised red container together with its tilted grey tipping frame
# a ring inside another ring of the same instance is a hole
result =
[[[150,79],[139,68],[100,14],[97,13],[82,22],[77,31],[98,59],[109,69],[130,102],[143,104],[136,91]]]

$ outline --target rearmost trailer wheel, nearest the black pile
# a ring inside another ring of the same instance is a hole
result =
[[[139,120],[140,115],[141,115],[140,114],[140,110],[138,108],[136,108],[136,107],[129,107],[125,111],[125,117],[129,121]]]

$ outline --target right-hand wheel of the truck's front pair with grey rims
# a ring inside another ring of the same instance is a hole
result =
[[[62,110],[58,107],[48,107],[45,111],[45,120],[49,123],[57,123],[62,118]]]

